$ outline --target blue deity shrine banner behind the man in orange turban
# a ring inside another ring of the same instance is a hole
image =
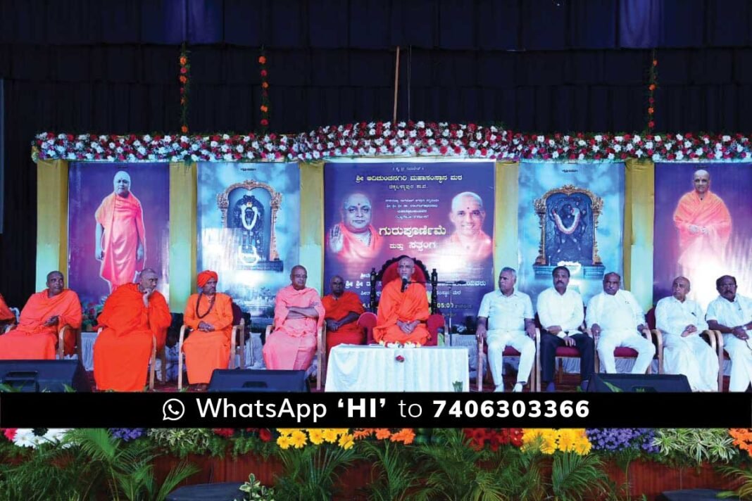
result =
[[[277,291],[299,263],[297,163],[199,162],[198,270],[254,318],[274,317]]]

